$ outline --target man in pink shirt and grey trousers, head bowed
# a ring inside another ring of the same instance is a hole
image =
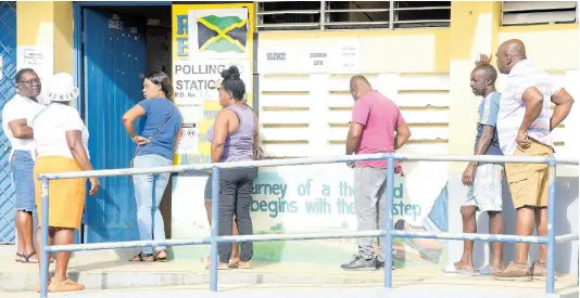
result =
[[[346,139],[346,155],[393,153],[411,137],[399,107],[389,99],[373,90],[363,76],[351,78],[351,94],[355,101],[351,128]],[[395,135],[396,132],[396,135]],[[387,219],[387,161],[361,161],[348,164],[354,169],[354,205],[358,231],[384,229]],[[394,169],[389,169],[394,170]],[[377,203],[378,202],[378,203]],[[378,215],[378,217],[377,217]],[[384,243],[374,258],[371,238],[358,238],[358,255],[341,268],[344,270],[377,270],[384,267]],[[391,251],[389,251],[391,254]]]

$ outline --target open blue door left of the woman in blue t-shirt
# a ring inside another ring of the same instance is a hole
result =
[[[147,72],[144,18],[84,9],[84,74],[89,153],[96,169],[127,168],[135,146],[121,118],[143,99]],[[87,243],[139,239],[137,208],[128,177],[101,178],[87,196]]]

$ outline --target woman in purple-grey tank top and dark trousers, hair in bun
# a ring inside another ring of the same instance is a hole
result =
[[[219,105],[213,127],[212,163],[252,160],[257,148],[257,117],[243,102],[245,86],[236,66],[222,72],[224,80],[218,89]],[[250,202],[252,199],[254,168],[224,169],[219,176],[219,220],[218,234],[232,234],[232,219],[240,235],[252,234]],[[241,244],[240,261],[229,263],[231,245],[218,245],[218,269],[251,268],[253,256],[252,243]]]

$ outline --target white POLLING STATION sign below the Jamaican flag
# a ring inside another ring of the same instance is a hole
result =
[[[179,104],[203,105],[205,101],[217,101],[217,80],[220,73],[231,65],[238,66],[245,83],[251,78],[250,62],[247,60],[202,60],[174,62],[174,98]]]

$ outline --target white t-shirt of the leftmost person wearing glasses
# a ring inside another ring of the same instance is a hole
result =
[[[2,109],[2,129],[4,130],[12,150],[10,151],[10,156],[8,160],[12,159],[14,151],[28,151],[30,152],[33,158],[35,157],[35,142],[33,139],[17,139],[12,135],[12,130],[8,126],[9,122],[17,119],[28,119],[34,117],[38,112],[42,109],[43,105],[16,94],[12,100],[10,100]]]

